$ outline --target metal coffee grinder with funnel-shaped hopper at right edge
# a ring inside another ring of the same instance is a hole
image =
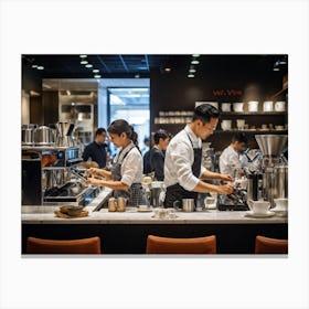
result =
[[[256,135],[255,139],[263,154],[262,198],[275,206],[274,199],[288,198],[288,162],[281,154],[287,145],[287,135]]]

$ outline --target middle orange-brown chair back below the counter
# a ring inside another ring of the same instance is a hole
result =
[[[215,254],[215,235],[195,238],[170,238],[148,235],[147,254]]]

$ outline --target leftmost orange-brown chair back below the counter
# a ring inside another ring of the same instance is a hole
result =
[[[54,241],[35,237],[26,238],[28,254],[100,254],[98,236],[82,239]]]

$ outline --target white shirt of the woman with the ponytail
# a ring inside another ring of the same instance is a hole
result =
[[[124,152],[127,152],[128,148],[131,147],[131,143],[129,143],[125,149]],[[121,152],[121,149],[119,149],[119,152],[115,156],[114,162],[117,162],[117,159],[119,157],[119,153]],[[121,159],[120,154],[120,159]],[[134,147],[130,152],[126,156],[126,158],[122,160],[121,163],[121,182],[131,187],[132,183],[141,183],[142,179],[142,157],[138,149]]]

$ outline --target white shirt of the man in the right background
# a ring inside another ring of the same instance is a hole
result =
[[[242,168],[239,153],[230,145],[220,156],[219,167],[221,173],[234,177],[235,170]]]

